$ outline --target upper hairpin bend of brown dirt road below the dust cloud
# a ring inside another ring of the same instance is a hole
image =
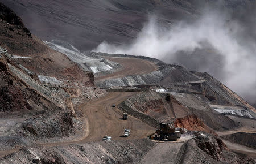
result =
[[[123,66],[123,69],[113,74],[95,77],[95,81],[115,79],[119,77],[126,77],[130,75],[148,74],[158,69],[156,64],[139,58],[115,58],[104,57],[109,61],[114,61]]]

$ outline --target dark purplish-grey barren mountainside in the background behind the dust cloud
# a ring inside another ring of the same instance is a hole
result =
[[[81,50],[96,48],[102,41],[119,44],[130,41],[141,31],[149,13],[159,15],[164,23],[180,19],[193,20],[201,8],[215,1],[32,1],[3,0],[17,12],[24,23],[43,40],[65,40]],[[226,8],[240,8],[250,1],[225,1]]]

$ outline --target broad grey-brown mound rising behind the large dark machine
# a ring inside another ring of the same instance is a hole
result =
[[[210,128],[228,130],[237,127],[232,119],[217,113],[202,98],[194,94],[158,93],[150,90],[128,98],[120,106],[123,111],[153,124],[172,122],[174,118],[181,118],[179,119],[180,124],[189,120],[199,125],[202,122],[205,123],[206,127],[199,126],[198,130],[207,132],[211,131]],[[189,127],[189,125],[187,126]]]

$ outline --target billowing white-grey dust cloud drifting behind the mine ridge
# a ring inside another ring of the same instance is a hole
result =
[[[94,51],[144,55],[181,64],[189,70],[208,72],[255,103],[256,23],[250,16],[254,17],[247,16],[244,23],[228,12],[204,10],[193,23],[181,20],[170,24],[153,15],[131,44],[113,45],[104,41]]]

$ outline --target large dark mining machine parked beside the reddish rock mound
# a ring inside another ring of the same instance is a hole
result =
[[[155,140],[176,141],[180,137],[181,133],[176,130],[173,123],[160,123],[160,130],[156,130],[154,133]]]

